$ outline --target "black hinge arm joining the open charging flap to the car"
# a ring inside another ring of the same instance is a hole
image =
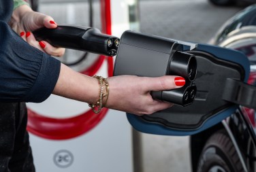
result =
[[[240,80],[227,78],[223,100],[256,109],[256,87]]]

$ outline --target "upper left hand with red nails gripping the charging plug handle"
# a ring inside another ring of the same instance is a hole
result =
[[[28,5],[21,5],[14,10],[10,26],[31,46],[52,56],[63,56],[65,52],[64,48],[55,48],[47,41],[38,42],[35,40],[33,33],[31,33],[41,27],[47,27],[49,29],[56,28],[57,24],[52,17],[39,12],[34,12]]]

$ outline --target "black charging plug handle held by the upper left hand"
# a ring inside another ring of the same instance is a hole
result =
[[[37,41],[48,41],[52,46],[82,50],[106,56],[115,56],[119,38],[106,35],[93,27],[59,25],[56,29],[33,31]]]

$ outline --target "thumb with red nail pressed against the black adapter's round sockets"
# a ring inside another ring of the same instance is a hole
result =
[[[184,78],[175,75],[165,75],[157,78],[146,78],[146,89],[149,91],[172,90],[186,84]]]

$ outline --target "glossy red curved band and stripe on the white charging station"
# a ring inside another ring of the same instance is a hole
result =
[[[110,0],[101,0],[101,26],[102,33],[111,35],[111,8]],[[99,56],[99,60],[92,68],[82,73],[94,75],[101,67],[104,56]],[[112,57],[108,58],[108,75],[112,76],[114,61]],[[28,109],[27,131],[46,139],[71,139],[91,131],[106,116],[108,109],[103,108],[99,114],[94,114],[90,109],[79,116],[72,118],[48,118],[43,114],[37,114],[35,111]]]

